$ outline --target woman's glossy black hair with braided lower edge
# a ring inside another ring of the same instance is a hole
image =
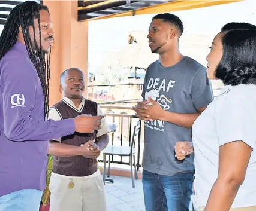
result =
[[[256,30],[229,30],[221,42],[223,56],[216,77],[225,85],[256,84]]]

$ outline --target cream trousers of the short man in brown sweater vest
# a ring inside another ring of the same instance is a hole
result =
[[[69,188],[71,179],[73,188]],[[103,178],[98,170],[86,177],[68,177],[52,172],[50,211],[106,211]]]

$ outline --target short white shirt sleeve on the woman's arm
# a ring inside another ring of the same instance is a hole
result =
[[[256,147],[256,105],[251,97],[228,93],[215,115],[219,146],[242,140]]]

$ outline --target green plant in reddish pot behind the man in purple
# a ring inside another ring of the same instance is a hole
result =
[[[49,211],[50,209],[50,191],[49,191],[49,184],[50,184],[50,177],[52,174],[52,155],[48,155],[47,160],[47,170],[46,170],[46,189],[44,189],[43,196],[41,198],[41,204],[39,211]]]

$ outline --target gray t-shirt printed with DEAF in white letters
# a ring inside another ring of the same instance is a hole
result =
[[[196,113],[213,100],[206,69],[188,56],[168,68],[159,60],[149,65],[142,92],[144,99],[148,96],[164,110],[184,114]],[[174,157],[176,142],[192,141],[191,129],[167,121],[145,121],[144,140],[144,170],[167,176],[194,171],[194,154],[183,161]]]

